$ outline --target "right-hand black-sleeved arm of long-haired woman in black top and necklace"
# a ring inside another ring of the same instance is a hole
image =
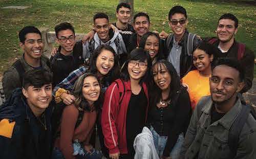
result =
[[[172,131],[168,134],[167,143],[164,148],[163,156],[168,157],[172,151],[174,145],[176,144],[179,134],[182,130],[187,129],[187,122],[190,119],[191,106],[188,93],[185,89],[181,89],[179,99],[176,101],[178,104],[178,109],[176,112],[176,118],[174,121],[174,126]]]

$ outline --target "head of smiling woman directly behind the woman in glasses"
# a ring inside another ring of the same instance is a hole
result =
[[[158,59],[163,58],[160,40],[159,35],[153,32],[147,32],[141,37],[139,48],[142,48],[148,52],[152,63],[155,63]]]

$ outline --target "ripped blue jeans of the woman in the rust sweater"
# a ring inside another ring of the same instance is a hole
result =
[[[102,158],[102,153],[98,150],[95,150],[94,148],[91,149],[91,152],[86,151],[79,142],[74,142],[73,143],[74,147],[74,153],[75,157],[77,159],[101,159]],[[52,152],[52,159],[65,159],[64,156],[62,155],[62,152],[55,147]]]

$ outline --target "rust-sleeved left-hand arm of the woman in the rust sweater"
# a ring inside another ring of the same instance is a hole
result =
[[[60,125],[59,146],[63,156],[66,159],[74,159],[73,155],[73,134],[78,118],[78,110],[74,105],[68,105],[64,108]]]

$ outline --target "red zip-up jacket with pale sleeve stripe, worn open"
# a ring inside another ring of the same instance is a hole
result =
[[[120,80],[120,79],[117,79]],[[105,146],[109,149],[111,154],[120,152],[126,154],[126,113],[131,99],[132,90],[131,82],[123,81],[125,93],[119,105],[119,89],[116,82],[113,82],[108,89],[106,89],[104,103],[101,114],[101,126],[104,135]],[[120,87],[120,85],[119,85]],[[145,83],[142,83],[144,93],[147,98],[146,118],[148,110],[148,92]],[[146,122],[145,118],[145,122]]]

